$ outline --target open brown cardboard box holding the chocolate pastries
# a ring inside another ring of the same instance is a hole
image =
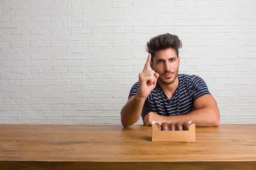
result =
[[[152,122],[152,141],[170,141],[170,142],[195,142],[195,124],[191,124],[189,130],[158,130],[156,122]]]

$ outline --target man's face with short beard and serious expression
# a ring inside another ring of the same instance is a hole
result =
[[[157,81],[163,84],[172,84],[177,76],[180,66],[180,57],[174,49],[163,49],[155,52],[153,62],[150,62],[152,70],[159,74]]]

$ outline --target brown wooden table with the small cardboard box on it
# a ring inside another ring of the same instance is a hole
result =
[[[0,125],[0,169],[256,169],[256,124],[195,133],[195,142],[152,142],[143,125]]]

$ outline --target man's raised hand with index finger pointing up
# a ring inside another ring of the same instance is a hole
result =
[[[148,54],[148,60],[144,66],[144,69],[141,73],[139,73],[139,91],[138,95],[140,97],[147,97],[151,91],[155,88],[157,84],[157,78],[159,77],[158,73],[154,73],[154,71],[148,71],[150,67],[151,54]]]

